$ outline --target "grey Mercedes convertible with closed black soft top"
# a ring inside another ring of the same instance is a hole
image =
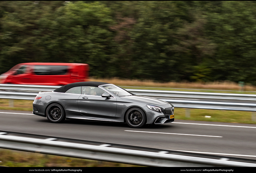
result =
[[[40,92],[33,102],[33,114],[52,123],[65,119],[125,122],[132,128],[174,121],[173,105],[134,95],[105,82],[75,82],[52,92]]]

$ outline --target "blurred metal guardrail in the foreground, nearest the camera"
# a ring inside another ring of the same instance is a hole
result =
[[[154,167],[256,167],[255,163],[174,155],[167,152],[120,149],[109,147],[109,145],[95,146],[54,140],[56,139],[7,136],[5,133],[0,133],[0,148]]]

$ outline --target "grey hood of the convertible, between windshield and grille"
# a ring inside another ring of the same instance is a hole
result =
[[[169,103],[165,101],[161,101],[158,99],[154,99],[151,97],[145,97],[145,96],[139,96],[139,95],[131,95],[131,96],[123,96],[120,97],[123,100],[126,101],[131,101],[131,102],[140,102],[140,103],[145,103],[147,105],[153,105],[153,106],[161,106],[161,105],[168,105]]]

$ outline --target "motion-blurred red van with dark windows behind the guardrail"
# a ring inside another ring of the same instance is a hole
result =
[[[88,77],[88,64],[29,62],[17,64],[1,74],[0,83],[66,85],[88,81]]]

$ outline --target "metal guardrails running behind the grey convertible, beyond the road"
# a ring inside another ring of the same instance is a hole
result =
[[[0,99],[21,99],[34,100],[39,91],[53,91],[60,86],[45,85],[22,85],[22,84],[0,84],[0,90],[11,92],[0,92]],[[229,111],[251,111],[256,112],[256,103],[238,103],[239,101],[256,101],[256,95],[248,94],[227,94],[227,93],[202,93],[183,91],[158,91],[158,90],[138,90],[126,89],[136,95],[158,98],[173,104],[174,107],[189,109],[215,109]],[[19,92],[14,92],[19,91]],[[22,92],[23,91],[23,92]],[[25,92],[26,91],[26,92]],[[21,93],[22,92],[22,93]],[[170,99],[175,98],[175,99]],[[180,99],[177,99],[180,98]],[[193,101],[182,99],[209,99],[211,101]],[[225,102],[217,99],[227,100]],[[229,102],[230,100],[237,101]]]

